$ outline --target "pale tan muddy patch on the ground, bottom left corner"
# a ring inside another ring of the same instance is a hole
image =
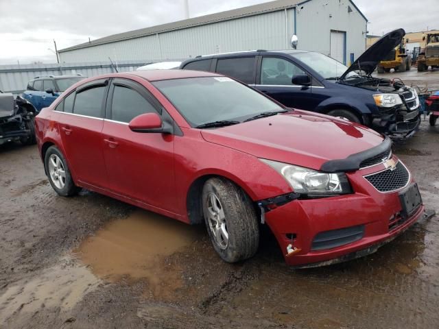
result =
[[[98,284],[99,279],[86,267],[72,266],[71,260],[64,258],[61,265],[16,282],[0,296],[0,325],[16,313],[32,314],[43,308],[70,310]]]

